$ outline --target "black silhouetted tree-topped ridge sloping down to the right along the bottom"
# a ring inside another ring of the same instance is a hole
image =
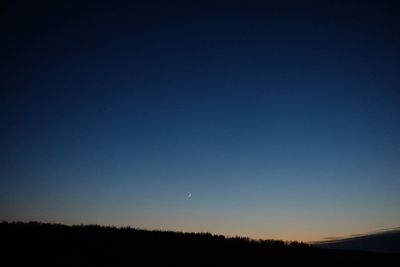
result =
[[[0,236],[2,266],[398,266],[400,256],[96,225],[3,222]]]

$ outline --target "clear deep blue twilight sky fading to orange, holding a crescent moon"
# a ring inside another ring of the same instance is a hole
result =
[[[400,225],[396,1],[1,5],[0,220]]]

